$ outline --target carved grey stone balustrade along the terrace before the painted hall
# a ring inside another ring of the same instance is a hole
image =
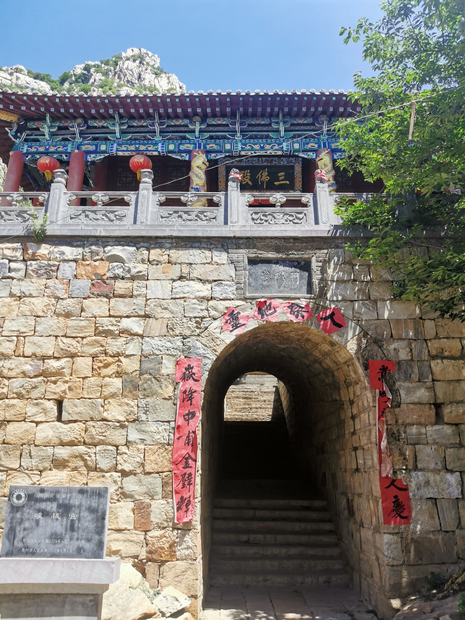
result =
[[[151,170],[143,170],[138,192],[68,192],[66,173],[57,173],[50,192],[0,192],[6,234],[27,234],[34,213],[38,223],[47,214],[48,234],[325,236],[341,224],[334,205],[342,194],[326,183],[314,193],[241,192],[234,180],[228,192],[170,192],[153,188]],[[202,198],[206,206],[197,206]]]

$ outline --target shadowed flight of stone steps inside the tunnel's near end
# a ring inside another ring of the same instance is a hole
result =
[[[325,500],[217,498],[210,585],[347,585]]]

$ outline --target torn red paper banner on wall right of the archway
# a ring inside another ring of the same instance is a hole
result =
[[[395,361],[370,360],[368,363],[370,387],[376,389],[376,427],[378,431],[379,486],[384,525],[407,525],[412,521],[409,485],[394,479],[392,458],[387,445],[384,412],[391,407],[391,392],[384,378],[396,370]]]

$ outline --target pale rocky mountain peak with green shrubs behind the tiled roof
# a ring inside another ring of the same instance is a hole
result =
[[[135,47],[115,54],[112,58],[76,64],[56,79],[49,74],[25,69],[20,64],[0,67],[0,87],[20,92],[91,95],[107,92],[134,95],[185,91],[185,85],[177,76],[161,68],[156,54]]]

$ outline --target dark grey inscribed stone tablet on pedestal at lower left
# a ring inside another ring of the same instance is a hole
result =
[[[0,557],[104,558],[109,502],[108,487],[12,484]]]

